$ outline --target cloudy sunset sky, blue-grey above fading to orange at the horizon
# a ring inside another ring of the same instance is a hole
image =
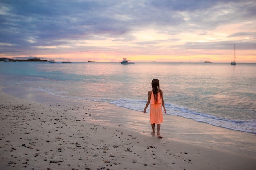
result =
[[[0,58],[256,63],[256,0],[1,0]]]

